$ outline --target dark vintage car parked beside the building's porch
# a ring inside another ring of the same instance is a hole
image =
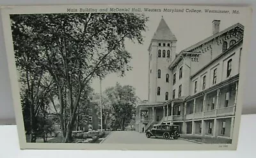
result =
[[[147,130],[146,136],[147,138],[154,136],[164,139],[178,139],[180,137],[179,125],[154,125],[152,129]]]

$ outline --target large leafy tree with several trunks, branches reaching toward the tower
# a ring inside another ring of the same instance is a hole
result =
[[[52,95],[57,95],[60,104],[56,113],[63,141],[70,142],[85,87],[97,75],[124,74],[124,68],[131,69],[131,54],[125,51],[124,41],[143,42],[141,31],[145,31],[147,17],[134,13],[63,13],[11,15],[11,19],[17,31],[13,34],[21,36],[13,40],[23,40],[15,47],[17,52],[36,53],[36,64],[45,68],[54,82]],[[31,43],[36,51],[22,47]]]

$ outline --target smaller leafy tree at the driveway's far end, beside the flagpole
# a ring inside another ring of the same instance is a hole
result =
[[[120,129],[124,130],[134,116],[135,105],[138,97],[135,95],[135,88],[129,85],[121,86],[116,83],[115,87],[106,89],[109,103],[113,106],[113,115]],[[115,125],[115,122],[113,123]]]

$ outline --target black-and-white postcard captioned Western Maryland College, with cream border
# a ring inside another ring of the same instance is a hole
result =
[[[22,149],[236,150],[252,9],[1,7]]]

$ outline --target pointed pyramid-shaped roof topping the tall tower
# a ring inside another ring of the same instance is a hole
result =
[[[175,35],[173,35],[172,31],[164,21],[163,17],[156,29],[156,33],[154,33],[152,40],[177,40]]]

